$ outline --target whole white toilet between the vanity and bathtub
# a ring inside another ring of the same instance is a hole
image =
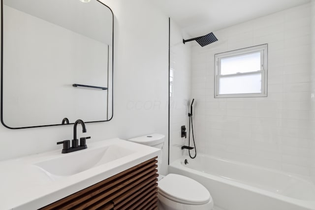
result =
[[[165,136],[150,134],[128,139],[130,142],[163,149]],[[158,156],[158,172],[162,155]],[[202,184],[178,174],[158,177],[158,209],[159,210],[212,210],[212,197]]]

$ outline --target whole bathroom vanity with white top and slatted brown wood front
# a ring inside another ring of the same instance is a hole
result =
[[[0,162],[0,209],[157,209],[160,150],[118,138]]]

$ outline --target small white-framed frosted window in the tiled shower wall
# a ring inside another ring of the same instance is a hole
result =
[[[267,44],[215,55],[215,98],[267,96]]]

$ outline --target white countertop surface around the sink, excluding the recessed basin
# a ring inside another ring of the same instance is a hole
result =
[[[49,176],[35,163],[64,156],[60,150],[29,155],[17,159],[0,161],[0,210],[34,210],[58,201],[99,181],[112,177],[128,168],[158,156],[160,150],[119,138],[88,144],[95,150],[103,146],[119,145],[133,153],[122,158],[95,166],[71,176]],[[80,161],[74,159],[73,161]]]

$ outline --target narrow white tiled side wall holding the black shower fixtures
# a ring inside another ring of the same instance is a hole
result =
[[[182,156],[181,126],[188,131],[189,102],[191,101],[191,44],[183,44],[183,33],[179,26],[170,22],[170,69],[173,72],[173,92],[170,95],[170,163]],[[188,136],[187,136],[188,137]]]

